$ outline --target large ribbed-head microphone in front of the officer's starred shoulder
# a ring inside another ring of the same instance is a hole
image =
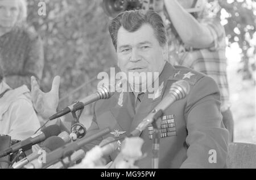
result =
[[[166,97],[139,123],[138,127],[128,137],[139,136],[155,119],[158,119],[172,103],[185,98],[190,91],[187,81],[180,80],[172,84]]]

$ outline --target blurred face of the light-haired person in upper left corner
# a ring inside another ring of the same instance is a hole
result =
[[[0,27],[11,28],[19,15],[19,0],[0,0]]]

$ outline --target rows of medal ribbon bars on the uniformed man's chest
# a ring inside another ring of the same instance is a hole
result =
[[[153,139],[153,133],[154,133],[154,128],[152,126],[149,126],[148,127],[149,139]],[[161,135],[161,138],[177,135],[174,115],[163,116],[161,127],[160,127],[160,135]]]

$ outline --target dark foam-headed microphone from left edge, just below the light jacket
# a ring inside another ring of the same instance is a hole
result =
[[[0,157],[7,156],[10,153],[15,153],[19,149],[26,151],[31,149],[31,146],[34,144],[41,143],[42,141],[46,140],[48,137],[57,136],[60,133],[59,125],[53,124],[41,130],[39,134],[35,134],[27,139],[20,141],[19,143],[11,146],[10,148],[3,150],[0,153]]]

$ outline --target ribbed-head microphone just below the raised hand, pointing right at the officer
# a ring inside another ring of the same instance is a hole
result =
[[[72,111],[81,110],[82,108],[84,108],[84,106],[86,106],[90,103],[93,103],[95,101],[98,101],[100,99],[109,99],[114,94],[114,92],[111,92],[110,89],[111,89],[111,87],[107,88],[105,86],[102,86],[100,89],[98,89],[98,91],[96,93],[91,94],[88,97],[82,99],[81,101],[73,103],[68,107],[65,107],[63,110],[60,110],[56,114],[49,117],[49,120],[59,118],[65,114],[68,114],[69,112],[72,112]]]

